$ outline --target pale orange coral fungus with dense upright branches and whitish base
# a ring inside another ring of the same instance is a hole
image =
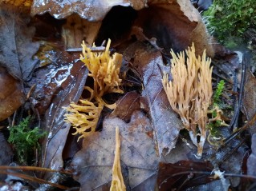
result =
[[[210,58],[206,58],[205,51],[202,57],[196,57],[195,47],[185,50],[187,54],[185,64],[185,53],[175,54],[173,50],[172,59],[172,81],[165,74],[162,83],[171,107],[181,117],[185,129],[194,145],[197,145],[197,156],[201,157],[205,144],[208,117],[207,111],[213,94],[212,70]],[[199,132],[197,132],[197,129]],[[197,136],[200,136],[199,142]]]

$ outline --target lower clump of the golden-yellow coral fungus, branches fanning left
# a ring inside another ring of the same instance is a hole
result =
[[[78,141],[81,137],[86,137],[86,131],[95,131],[100,113],[104,106],[102,101],[97,103],[98,106],[88,100],[80,99],[79,102],[79,105],[71,103],[71,105],[67,107],[69,113],[65,114],[67,121],[76,129],[73,135],[77,133],[82,134],[78,138]]]

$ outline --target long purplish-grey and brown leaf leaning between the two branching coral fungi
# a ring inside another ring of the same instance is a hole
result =
[[[169,67],[164,66],[161,53],[141,42],[129,46],[124,52],[124,58],[132,60],[138,73],[143,78],[145,108],[149,107],[153,129],[156,135],[156,144],[160,155],[167,154],[176,144],[180,129],[184,126],[178,119],[177,113],[170,108],[165,90],[161,83],[162,72],[168,71]]]

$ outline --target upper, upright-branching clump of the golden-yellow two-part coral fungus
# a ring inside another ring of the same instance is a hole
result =
[[[122,55],[115,53],[111,56],[110,43],[111,40],[108,39],[106,49],[102,53],[92,52],[84,42],[82,44],[83,55],[80,56],[80,60],[90,71],[89,76],[94,79],[93,94],[97,97],[102,97],[107,93],[123,93],[123,90],[119,88]]]

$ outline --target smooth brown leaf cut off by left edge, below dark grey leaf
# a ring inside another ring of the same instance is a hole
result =
[[[0,87],[0,121],[2,121],[10,117],[24,103],[25,97],[21,82],[14,79],[2,67],[0,67]]]

